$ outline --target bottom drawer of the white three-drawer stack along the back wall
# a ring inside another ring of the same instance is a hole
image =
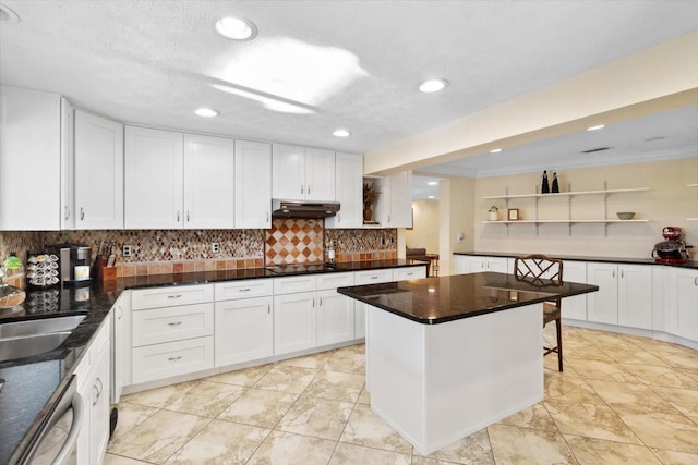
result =
[[[213,367],[213,335],[133,350],[134,383],[185,375]]]

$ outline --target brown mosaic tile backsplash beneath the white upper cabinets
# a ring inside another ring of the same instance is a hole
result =
[[[269,230],[0,231],[0,258],[14,252],[24,260],[62,243],[88,245],[94,256],[113,243],[117,276],[129,277],[322,262],[328,241],[340,262],[397,258],[397,230],[326,230],[323,220],[274,220]],[[124,244],[131,257],[121,255]]]

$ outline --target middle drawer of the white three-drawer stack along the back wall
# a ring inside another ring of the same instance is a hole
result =
[[[159,344],[214,333],[214,304],[154,308],[133,314],[133,346]]]

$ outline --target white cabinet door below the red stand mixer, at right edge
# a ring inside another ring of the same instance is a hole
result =
[[[666,331],[698,342],[698,270],[669,268]]]

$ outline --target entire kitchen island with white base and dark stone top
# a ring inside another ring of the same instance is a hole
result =
[[[429,454],[541,402],[542,303],[598,290],[482,272],[337,291],[366,304],[371,408]]]

